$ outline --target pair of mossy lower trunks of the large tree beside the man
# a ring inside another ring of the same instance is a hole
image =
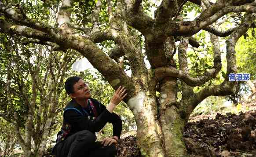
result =
[[[140,91],[128,101],[128,105],[133,106],[138,144],[144,156],[186,157],[187,151],[183,142],[186,120],[180,116],[175,105],[176,78],[169,77],[164,82],[160,103],[155,91]]]

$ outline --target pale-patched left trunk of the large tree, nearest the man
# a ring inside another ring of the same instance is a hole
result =
[[[161,137],[157,130],[156,99],[153,93],[140,91],[128,101],[128,105],[132,107],[134,113],[138,144],[142,155],[164,157]]]

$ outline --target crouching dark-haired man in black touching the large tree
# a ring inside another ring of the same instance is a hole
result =
[[[72,100],[64,109],[62,128],[52,154],[56,157],[114,157],[122,121],[113,110],[127,95],[124,87],[117,89],[108,106],[91,98],[88,84],[80,77],[69,77],[65,90]],[[95,132],[107,122],[113,124],[113,137],[95,142]]]

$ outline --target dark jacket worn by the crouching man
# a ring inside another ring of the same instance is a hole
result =
[[[120,139],[122,131],[122,120],[120,117],[116,113],[110,113],[106,110],[106,106],[102,105],[102,103],[98,102],[96,99],[89,99],[94,104],[98,113],[98,117],[94,120],[92,117],[88,117],[88,114],[84,112],[82,107],[75,100],[71,100],[65,107],[63,113],[63,125],[65,126],[66,123],[71,125],[71,130],[68,136],[82,130],[88,130],[93,133],[99,132],[106,123],[109,122],[113,125],[113,136],[117,136]],[[69,110],[66,110],[68,108]],[[70,108],[72,109],[70,110]]]

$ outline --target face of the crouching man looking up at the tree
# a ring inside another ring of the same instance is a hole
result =
[[[74,92],[70,94],[71,98],[74,99],[88,99],[91,97],[91,91],[88,84],[80,79],[76,84],[73,85]]]

